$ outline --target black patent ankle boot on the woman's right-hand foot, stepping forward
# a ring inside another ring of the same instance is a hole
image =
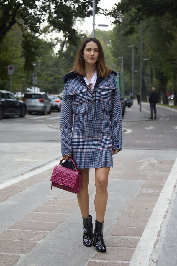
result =
[[[94,230],[94,243],[96,250],[100,252],[106,252],[106,245],[103,239],[103,223],[95,220],[95,230]]]

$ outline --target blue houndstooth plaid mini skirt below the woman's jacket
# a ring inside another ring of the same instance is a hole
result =
[[[110,120],[74,122],[72,150],[79,169],[113,167]]]

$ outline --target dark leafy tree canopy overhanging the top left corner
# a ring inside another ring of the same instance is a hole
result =
[[[96,4],[96,12],[99,10],[97,7],[99,1]],[[22,32],[27,29],[32,33],[40,34],[44,30],[41,25],[46,21],[46,31],[63,32],[65,41],[76,45],[78,38],[73,28],[76,18],[82,19],[92,14],[91,0],[0,0],[0,7],[1,46],[2,40],[15,23],[18,23]]]

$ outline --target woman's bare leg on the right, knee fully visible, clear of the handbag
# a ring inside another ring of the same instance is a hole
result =
[[[100,223],[103,223],[106,211],[108,199],[107,186],[109,171],[110,167],[101,167],[95,169],[95,212],[96,220]]]

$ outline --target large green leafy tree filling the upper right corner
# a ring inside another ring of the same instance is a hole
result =
[[[143,21],[143,51],[148,54],[151,66],[151,81],[154,76],[158,89],[163,93],[163,103],[166,98],[167,85],[172,84],[176,104],[176,61],[177,61],[177,3],[173,0],[130,1],[122,0],[109,12],[115,23],[122,24],[126,16],[124,35],[134,35],[140,20]]]

